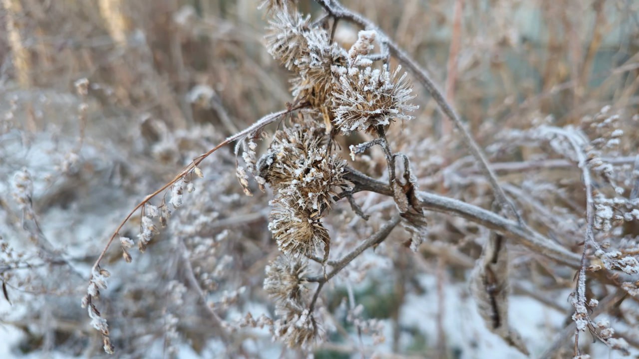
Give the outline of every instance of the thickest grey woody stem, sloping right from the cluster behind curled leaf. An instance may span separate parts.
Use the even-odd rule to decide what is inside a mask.
[[[355,183],[355,192],[369,190],[378,194],[392,197],[392,190],[381,181],[370,178],[362,172],[348,169],[344,178]],[[456,217],[465,218],[477,224],[481,224],[488,229],[500,231],[508,238],[518,241],[525,247],[531,248],[534,253],[550,257],[559,263],[566,264],[572,268],[581,268],[581,257],[578,254],[558,245],[555,241],[544,237],[528,227],[523,227],[518,222],[508,220],[497,213],[484,210],[472,204],[458,201],[456,199],[444,197],[442,195],[419,192],[420,204],[425,210],[447,213]]]

